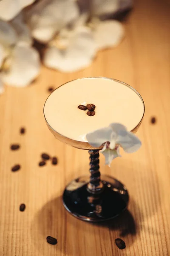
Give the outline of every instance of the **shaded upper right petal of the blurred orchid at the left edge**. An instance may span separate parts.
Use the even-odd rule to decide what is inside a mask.
[[[20,13],[10,22],[11,26],[17,33],[17,44],[18,45],[30,45],[32,44],[31,32],[23,22],[23,15]]]

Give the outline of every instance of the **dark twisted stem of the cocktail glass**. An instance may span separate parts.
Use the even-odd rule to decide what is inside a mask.
[[[90,182],[88,183],[88,191],[96,194],[102,191],[103,183],[100,180],[99,172],[99,150],[89,150],[90,154]]]

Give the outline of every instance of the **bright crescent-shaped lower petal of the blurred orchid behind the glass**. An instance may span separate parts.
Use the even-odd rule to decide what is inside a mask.
[[[65,50],[49,47],[44,56],[45,66],[61,72],[74,72],[91,64],[96,55],[96,44],[88,28],[79,28],[67,44]]]

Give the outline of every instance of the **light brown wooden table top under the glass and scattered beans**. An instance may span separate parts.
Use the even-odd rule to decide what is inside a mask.
[[[119,47],[99,52],[86,70],[67,75],[42,67],[30,87],[6,87],[0,96],[0,256],[170,255],[170,4],[137,1],[125,31]],[[63,189],[88,174],[88,152],[55,140],[42,112],[49,86],[82,76],[125,81],[146,106],[138,132],[142,148],[114,160],[111,169],[100,157],[101,172],[121,180],[130,193],[128,211],[106,224],[79,221],[64,209]],[[20,135],[22,126],[26,134]],[[21,148],[11,151],[11,143]],[[42,152],[57,156],[58,165],[39,167]],[[20,171],[11,172],[17,163]],[[58,244],[48,244],[46,236]],[[118,237],[125,250],[116,247]]]

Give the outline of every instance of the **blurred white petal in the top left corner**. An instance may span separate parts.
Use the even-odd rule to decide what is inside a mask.
[[[0,19],[11,20],[26,6],[34,3],[35,0],[1,0]]]

